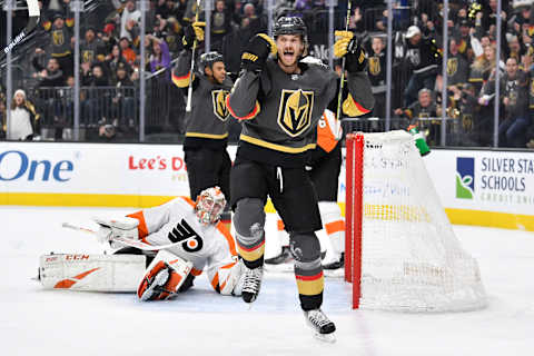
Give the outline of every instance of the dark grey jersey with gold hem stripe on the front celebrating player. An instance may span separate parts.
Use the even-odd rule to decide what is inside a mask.
[[[260,73],[245,71],[227,100],[243,122],[238,155],[274,166],[303,166],[315,148],[317,122],[330,101],[337,103],[338,77],[328,67],[299,63],[299,75],[284,72],[275,59]],[[355,105],[370,110],[374,97],[367,73],[348,76]]]

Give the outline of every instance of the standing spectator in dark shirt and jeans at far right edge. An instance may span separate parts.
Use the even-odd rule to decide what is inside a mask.
[[[525,134],[531,125],[527,85],[528,78],[518,69],[517,58],[510,57],[506,60],[506,72],[501,79],[501,100],[504,107],[504,121],[498,126],[501,147],[525,147]]]

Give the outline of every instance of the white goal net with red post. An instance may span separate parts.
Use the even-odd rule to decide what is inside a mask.
[[[345,278],[353,307],[471,310],[486,304],[406,131],[347,135]]]

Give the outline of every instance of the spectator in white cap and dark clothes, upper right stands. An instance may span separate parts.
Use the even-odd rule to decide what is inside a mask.
[[[435,40],[423,37],[417,26],[408,28],[406,39],[406,59],[413,70],[413,75],[404,91],[404,106],[408,107],[417,100],[416,95],[422,88],[434,89],[441,56]]]

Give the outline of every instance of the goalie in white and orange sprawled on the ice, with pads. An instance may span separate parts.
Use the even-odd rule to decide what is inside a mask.
[[[177,197],[119,219],[93,218],[95,235],[113,253],[41,256],[38,279],[50,289],[137,291],[141,300],[160,300],[192,287],[205,270],[217,293],[240,296],[243,264],[220,222],[225,206],[211,187],[197,201]]]

